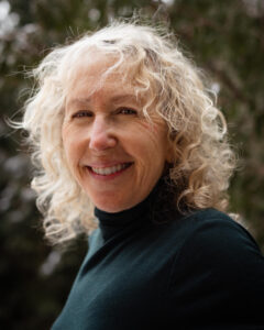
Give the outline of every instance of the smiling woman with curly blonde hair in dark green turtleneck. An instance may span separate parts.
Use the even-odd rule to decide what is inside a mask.
[[[224,213],[224,118],[170,36],[113,23],[34,74],[23,128],[46,237],[89,234],[52,329],[264,329],[264,258]]]

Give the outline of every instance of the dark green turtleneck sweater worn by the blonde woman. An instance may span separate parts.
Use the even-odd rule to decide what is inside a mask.
[[[53,330],[264,329],[252,237],[215,209],[158,207],[160,193],[119,213],[96,209],[99,228]]]

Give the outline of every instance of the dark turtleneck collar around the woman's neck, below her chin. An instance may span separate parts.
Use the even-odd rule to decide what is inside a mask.
[[[99,219],[99,227],[105,240],[128,228],[138,228],[150,223],[153,219],[153,206],[158,201],[160,191],[164,180],[160,179],[152,193],[140,204],[131,209],[109,213],[95,208],[95,216]]]

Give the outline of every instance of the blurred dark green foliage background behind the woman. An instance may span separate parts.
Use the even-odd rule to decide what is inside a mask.
[[[50,329],[86,253],[84,238],[66,252],[43,241],[23,133],[6,123],[32,87],[23,73],[51,47],[135,10],[168,25],[210,77],[241,160],[230,209],[264,251],[264,0],[0,1],[0,329]]]

